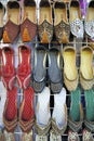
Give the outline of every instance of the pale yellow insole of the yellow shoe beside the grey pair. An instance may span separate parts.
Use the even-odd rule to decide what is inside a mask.
[[[77,78],[76,55],[71,49],[64,52],[64,69],[67,79],[75,80]]]

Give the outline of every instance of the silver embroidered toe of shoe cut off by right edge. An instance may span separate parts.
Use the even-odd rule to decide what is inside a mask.
[[[94,40],[94,21],[85,22],[85,33]]]

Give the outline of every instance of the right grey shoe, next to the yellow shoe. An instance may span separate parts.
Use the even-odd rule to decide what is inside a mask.
[[[53,93],[59,93],[63,88],[61,52],[58,49],[52,48],[49,50],[48,56],[49,56],[48,75],[50,80],[50,87]]]

